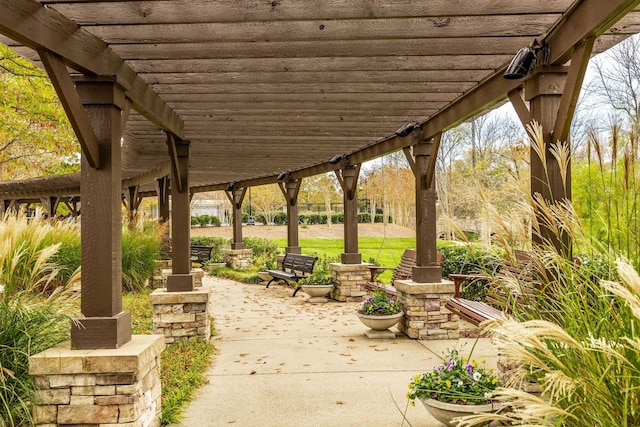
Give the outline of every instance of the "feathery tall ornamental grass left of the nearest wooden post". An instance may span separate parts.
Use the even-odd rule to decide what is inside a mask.
[[[0,222],[0,427],[32,422],[29,356],[68,339],[78,316],[78,271],[61,281],[52,262],[60,244],[51,241],[67,227],[21,214]]]

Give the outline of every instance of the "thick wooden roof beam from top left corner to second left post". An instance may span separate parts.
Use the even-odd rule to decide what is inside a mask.
[[[82,73],[117,76],[134,108],[163,130],[183,137],[182,120],[109,46],[52,8],[34,0],[0,0],[0,33],[44,49]]]

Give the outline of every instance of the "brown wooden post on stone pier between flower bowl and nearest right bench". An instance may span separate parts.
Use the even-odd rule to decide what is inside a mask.
[[[438,134],[429,141],[420,138],[420,142],[412,147],[413,153],[404,150],[415,176],[416,265],[412,270],[412,280],[417,283],[442,281],[442,268],[437,262],[436,252],[436,190],[433,178],[441,136]]]

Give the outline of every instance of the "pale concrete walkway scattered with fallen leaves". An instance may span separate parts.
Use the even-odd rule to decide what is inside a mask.
[[[407,384],[446,349],[470,351],[475,341],[370,340],[359,303],[309,304],[281,285],[212,277],[203,285],[213,288],[217,354],[183,427],[408,426],[405,410],[414,427],[437,426],[421,403],[407,406]],[[486,339],[473,357],[495,366]]]

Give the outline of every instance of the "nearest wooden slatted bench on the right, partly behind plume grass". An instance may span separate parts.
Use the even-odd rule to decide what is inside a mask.
[[[527,298],[532,298],[539,288],[531,256],[526,251],[515,251],[514,259],[505,261],[495,277],[483,274],[450,274],[449,278],[454,283],[454,295],[447,301],[445,308],[476,326],[485,320],[504,319],[510,311],[510,304],[522,304]],[[462,284],[476,280],[489,283],[486,302],[472,301],[460,296]],[[518,289],[510,289],[507,293],[507,282],[517,283]]]

